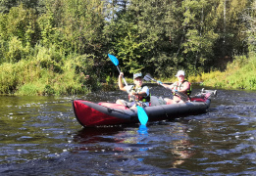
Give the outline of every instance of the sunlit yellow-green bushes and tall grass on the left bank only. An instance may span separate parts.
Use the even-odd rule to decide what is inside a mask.
[[[77,71],[84,64],[76,57],[67,60],[52,51],[40,48],[29,60],[0,65],[0,94],[74,95],[100,86],[92,74],[86,77]]]

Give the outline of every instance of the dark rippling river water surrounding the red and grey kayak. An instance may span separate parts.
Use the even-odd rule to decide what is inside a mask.
[[[152,95],[169,95],[149,86]],[[255,91],[218,90],[208,112],[144,129],[83,128],[72,109],[74,99],[126,96],[0,96],[0,175],[256,175]]]

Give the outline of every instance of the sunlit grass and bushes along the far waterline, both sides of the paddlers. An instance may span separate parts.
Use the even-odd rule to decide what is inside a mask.
[[[0,65],[0,94],[74,95],[100,88],[99,75],[93,69],[93,56],[65,56],[55,49],[40,46],[18,63]],[[190,82],[202,85],[256,90],[256,56],[236,57],[225,72],[219,70],[190,75]],[[86,75],[89,73],[89,76]],[[107,77],[106,88],[113,89],[117,79]],[[132,82],[132,79],[127,79]],[[165,81],[165,80],[163,80]],[[168,79],[166,81],[175,81]]]

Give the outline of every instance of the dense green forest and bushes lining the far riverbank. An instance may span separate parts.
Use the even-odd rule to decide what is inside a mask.
[[[253,0],[2,0],[0,94],[99,89],[117,79],[108,54],[127,77],[184,69],[202,81],[241,68],[243,85],[223,74],[214,86],[256,89],[255,9]]]

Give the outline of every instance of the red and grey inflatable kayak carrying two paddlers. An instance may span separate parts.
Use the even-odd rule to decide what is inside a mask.
[[[186,103],[163,105],[157,97],[151,96],[151,106],[143,108],[148,121],[175,119],[178,116],[204,113],[209,109],[212,95],[216,91],[204,91],[191,97]],[[73,101],[77,121],[84,127],[138,123],[137,110],[113,103],[92,103],[84,100]]]

